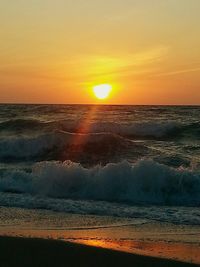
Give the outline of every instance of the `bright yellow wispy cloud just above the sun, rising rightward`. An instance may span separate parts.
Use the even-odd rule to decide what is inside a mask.
[[[77,59],[75,66],[79,67],[82,77],[87,79],[144,73],[152,70],[152,66],[160,62],[168,50],[166,46],[159,46],[133,54],[84,56]]]

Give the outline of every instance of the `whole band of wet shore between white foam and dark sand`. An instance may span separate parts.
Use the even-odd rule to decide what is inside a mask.
[[[197,265],[200,264],[199,233],[197,225],[0,208],[0,236],[4,238],[64,241]]]

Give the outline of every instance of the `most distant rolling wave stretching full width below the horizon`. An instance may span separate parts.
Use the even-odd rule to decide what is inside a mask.
[[[71,134],[113,134],[132,140],[176,140],[177,138],[195,139],[200,133],[200,123],[181,123],[175,121],[147,121],[134,123],[74,121],[40,121],[36,119],[13,119],[0,123],[1,136],[53,135],[55,132]]]

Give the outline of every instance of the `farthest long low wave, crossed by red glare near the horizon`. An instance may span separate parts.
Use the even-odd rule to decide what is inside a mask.
[[[84,123],[73,120],[58,120],[42,122],[36,119],[13,119],[0,123],[0,130],[10,132],[53,132],[66,131],[70,133],[113,133],[132,138],[173,138],[184,131],[200,130],[199,123],[182,124],[174,121],[167,122],[135,122],[131,124],[119,124],[111,122],[89,123],[87,127],[81,127]],[[85,124],[84,124],[85,126]]]

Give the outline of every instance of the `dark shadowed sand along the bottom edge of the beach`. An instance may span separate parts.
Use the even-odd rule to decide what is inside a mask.
[[[0,237],[0,267],[186,267],[160,258],[36,238]]]

